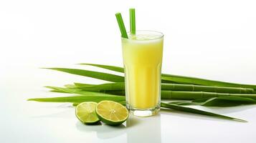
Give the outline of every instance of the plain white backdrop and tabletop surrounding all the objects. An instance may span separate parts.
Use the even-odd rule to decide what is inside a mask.
[[[100,83],[39,67],[122,65],[115,12],[128,28],[162,31],[163,72],[256,84],[255,1],[0,1],[0,142],[255,142],[255,106],[203,108],[248,123],[182,112],[130,118],[120,127],[85,126],[46,85]],[[104,71],[104,70],[102,70]]]

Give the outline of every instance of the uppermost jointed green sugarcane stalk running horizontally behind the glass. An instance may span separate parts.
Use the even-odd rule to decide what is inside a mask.
[[[124,82],[108,83],[108,84],[80,84],[75,83],[75,86],[79,89],[86,91],[114,91],[125,90]],[[229,93],[229,94],[252,94],[253,89],[240,88],[240,87],[214,87],[214,86],[202,86],[193,84],[161,84],[161,90],[171,91],[186,91],[186,92],[217,92],[217,93]]]

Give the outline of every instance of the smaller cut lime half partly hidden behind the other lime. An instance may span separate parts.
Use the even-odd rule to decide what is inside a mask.
[[[75,115],[85,124],[95,124],[100,121],[95,113],[96,102],[82,102],[75,108]]]

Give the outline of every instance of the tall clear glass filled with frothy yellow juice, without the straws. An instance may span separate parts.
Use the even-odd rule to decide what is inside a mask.
[[[161,99],[163,34],[136,31],[122,38],[126,107],[141,117],[157,114]]]

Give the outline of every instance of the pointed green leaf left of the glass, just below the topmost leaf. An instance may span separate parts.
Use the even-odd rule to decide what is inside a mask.
[[[118,76],[115,74],[107,74],[107,73],[98,72],[98,71],[88,71],[83,69],[66,69],[66,68],[44,68],[44,69],[63,71],[69,74],[76,74],[84,77],[92,77],[95,79],[101,79],[109,82],[124,82],[124,77],[122,76]]]

